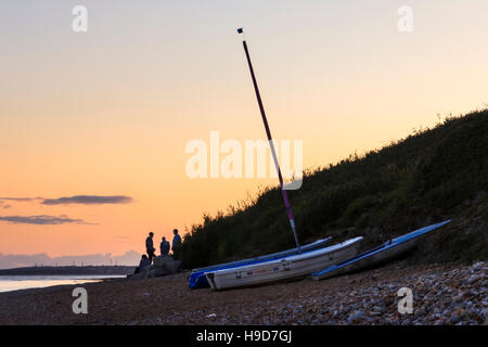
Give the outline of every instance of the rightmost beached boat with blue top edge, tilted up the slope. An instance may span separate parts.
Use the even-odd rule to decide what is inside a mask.
[[[449,222],[450,220],[446,220],[440,223],[418,229],[408,234],[388,240],[383,245],[364,252],[356,257],[336,265],[329,265],[322,270],[312,273],[311,277],[313,280],[319,281],[348,272],[359,271],[395,259],[415,247],[420,241],[420,236]]]

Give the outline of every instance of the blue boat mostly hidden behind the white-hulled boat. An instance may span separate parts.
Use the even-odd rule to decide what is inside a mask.
[[[317,240],[316,242],[300,246],[299,252],[298,252],[298,248],[295,247],[295,248],[273,253],[273,254],[268,254],[265,256],[247,258],[247,259],[224,262],[224,264],[217,264],[217,265],[213,265],[213,266],[205,267],[205,268],[194,269],[194,270],[192,270],[192,273],[190,274],[189,285],[190,285],[190,288],[192,288],[192,290],[207,288],[210,286],[210,284],[207,281],[207,278],[205,277],[205,273],[208,271],[237,268],[237,267],[252,265],[252,264],[258,264],[258,262],[262,262],[262,261],[267,261],[267,260],[281,259],[281,258],[284,258],[286,256],[291,256],[294,254],[306,253],[309,250],[321,248],[321,247],[325,246],[325,244],[331,242],[331,240],[332,240],[332,237]]]

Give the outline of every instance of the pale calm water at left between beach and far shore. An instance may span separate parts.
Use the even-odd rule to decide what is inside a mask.
[[[125,275],[0,275],[0,293],[62,284],[100,282],[102,279],[121,278],[125,278]]]

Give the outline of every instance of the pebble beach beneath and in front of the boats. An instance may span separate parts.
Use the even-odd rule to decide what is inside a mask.
[[[214,292],[190,290],[190,272],[157,279],[82,285],[88,313],[75,314],[75,286],[0,294],[0,324],[409,324],[487,325],[486,261],[408,265],[323,281],[309,278]],[[402,287],[412,312],[400,313]]]

